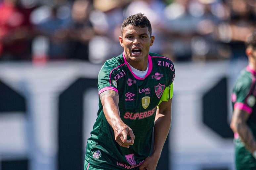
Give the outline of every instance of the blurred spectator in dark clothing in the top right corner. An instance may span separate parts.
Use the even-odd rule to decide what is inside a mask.
[[[232,57],[246,56],[244,41],[256,28],[256,1],[229,0],[226,5],[230,18],[218,25],[217,39],[230,44]]]

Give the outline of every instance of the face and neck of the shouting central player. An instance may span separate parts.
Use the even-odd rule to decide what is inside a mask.
[[[124,54],[127,62],[140,71],[147,70],[149,48],[154,43],[154,36],[150,36],[148,27],[134,27],[127,25],[122,30],[122,36],[119,36],[119,42],[124,48]],[[139,55],[134,54],[132,50],[140,49]]]

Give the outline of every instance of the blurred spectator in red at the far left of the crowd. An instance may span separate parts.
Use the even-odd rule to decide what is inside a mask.
[[[22,4],[23,2],[23,4]],[[33,29],[29,17],[33,4],[4,0],[0,4],[0,59],[30,59]]]

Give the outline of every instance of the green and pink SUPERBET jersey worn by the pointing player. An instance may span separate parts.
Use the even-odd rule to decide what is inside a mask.
[[[109,89],[118,92],[120,117],[133,130],[135,141],[130,148],[117,144],[99,99],[98,118],[87,141],[85,155],[90,164],[109,169],[132,169],[149,156],[156,108],[164,89],[169,86],[172,91],[175,71],[172,61],[158,54],[150,52],[148,62],[144,78],[131,71],[124,53],[103,65],[98,77],[99,94]]]

